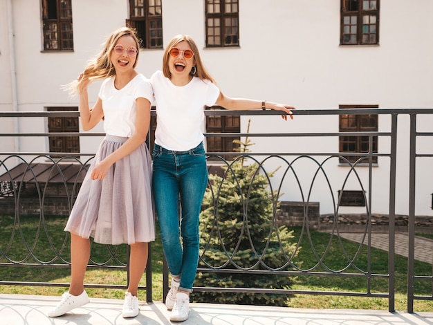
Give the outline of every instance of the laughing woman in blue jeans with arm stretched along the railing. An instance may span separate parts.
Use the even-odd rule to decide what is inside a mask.
[[[174,37],[165,49],[163,71],[151,76],[156,100],[153,189],[164,254],[172,285],[165,304],[170,320],[188,318],[190,293],[199,263],[199,214],[208,184],[203,147],[205,106],[237,111],[275,109],[292,118],[293,106],[227,97],[215,86],[187,35]],[[181,199],[179,224],[178,199]]]

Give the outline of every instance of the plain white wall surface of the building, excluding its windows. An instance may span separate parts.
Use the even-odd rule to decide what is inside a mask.
[[[73,0],[74,50],[47,53],[42,52],[40,1],[0,0],[1,111],[14,110],[12,75],[17,80],[18,111],[77,106],[77,97],[68,97],[62,85],[77,77],[112,30],[125,26],[128,2]],[[205,48],[204,0],[163,0],[163,42],[165,47],[174,35],[192,35],[201,48],[205,65],[221,91],[230,97],[284,102],[297,109],[337,109],[340,104],[378,104],[380,108],[433,107],[433,1],[417,0],[416,6],[409,0],[380,2],[379,46],[339,45],[340,0],[239,0],[239,48]],[[10,10],[12,15],[8,15]],[[14,48],[11,49],[10,44]],[[10,53],[14,51],[15,60],[11,60]],[[162,49],[142,50],[138,71],[150,76],[161,68],[162,55]],[[15,75],[13,71],[16,71]],[[93,102],[99,85],[100,82],[95,82],[90,86],[89,97]],[[251,120],[252,133],[338,131],[337,116],[297,116],[288,122],[277,116],[253,117]],[[407,116],[401,117],[398,130],[398,214],[407,214],[409,196],[406,192],[408,120]],[[19,125],[11,121],[0,121],[2,130],[47,131],[46,119],[22,118]],[[242,131],[246,131],[247,123],[248,118],[243,118]],[[420,123],[429,130],[433,119],[424,117]],[[389,125],[389,117],[380,117],[380,131],[389,131]],[[92,131],[102,131],[102,124]],[[338,151],[336,138],[252,140],[255,151]],[[100,138],[83,138],[81,150],[93,152],[99,142]],[[430,152],[433,149],[431,143],[423,144]],[[380,138],[379,151],[388,151],[388,148],[389,140]],[[42,137],[1,142],[1,151],[14,149],[46,151],[48,142]],[[308,165],[314,168],[311,162],[299,160],[294,164],[301,178],[311,178]],[[418,178],[423,181],[417,188],[417,214],[432,215],[432,160],[420,160],[419,165]],[[270,161],[266,165],[268,170],[278,166],[283,166],[280,161]],[[379,158],[378,167],[374,168],[372,209],[376,213],[388,212],[388,166],[387,158]],[[326,173],[333,175],[333,189],[342,187],[347,170],[336,160],[326,163]],[[362,178],[367,177],[367,169],[361,168],[360,174]],[[321,212],[329,213],[333,204],[329,191],[326,192],[326,182],[320,177],[310,200],[320,201]],[[283,199],[300,200],[300,191],[293,187],[292,181],[293,178],[288,176],[282,189]],[[308,186],[305,186],[304,199],[308,195]],[[357,186],[356,180],[351,179],[346,189],[358,189]]]

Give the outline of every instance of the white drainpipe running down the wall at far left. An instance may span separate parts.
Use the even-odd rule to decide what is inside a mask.
[[[15,69],[15,35],[13,24],[12,0],[8,0],[8,35],[9,35],[9,56],[10,56],[10,88],[12,89],[12,111],[18,112],[18,93],[17,93],[17,71]],[[19,118],[14,118],[14,131],[19,133]],[[14,139],[15,152],[20,152],[21,146],[19,137]]]

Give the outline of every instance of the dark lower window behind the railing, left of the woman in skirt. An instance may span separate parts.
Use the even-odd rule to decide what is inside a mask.
[[[78,107],[47,107],[46,111],[78,111]],[[48,116],[48,133],[59,132],[80,132],[80,122],[78,116]],[[50,152],[50,157],[53,158],[59,157],[59,155],[53,154],[55,152],[79,154],[80,136],[49,136],[48,151]]]

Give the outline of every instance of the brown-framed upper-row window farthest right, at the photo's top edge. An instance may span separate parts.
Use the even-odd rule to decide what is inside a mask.
[[[340,45],[379,44],[380,0],[341,0]]]

